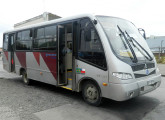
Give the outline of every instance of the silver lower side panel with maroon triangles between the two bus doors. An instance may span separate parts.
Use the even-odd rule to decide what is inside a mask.
[[[16,52],[16,56],[15,56],[16,73],[20,74],[20,70],[21,68],[23,68],[27,71],[27,75],[29,79],[34,79],[44,83],[56,85],[57,84],[56,59],[45,58],[45,57],[52,57],[50,55],[56,53],[38,52],[37,54],[38,57],[35,57],[36,52],[35,53]],[[53,59],[53,60],[50,61],[45,59]]]

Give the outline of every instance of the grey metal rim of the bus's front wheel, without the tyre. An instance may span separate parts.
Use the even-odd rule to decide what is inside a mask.
[[[91,103],[94,103],[98,100],[98,98],[99,92],[97,88],[92,84],[88,84],[85,90],[85,99]]]

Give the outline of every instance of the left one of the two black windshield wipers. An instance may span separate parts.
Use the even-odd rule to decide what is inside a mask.
[[[126,43],[128,44],[128,47],[130,48],[131,52],[132,52],[132,55],[133,55],[133,58],[131,58],[132,62],[135,62],[135,63],[138,62],[137,57],[135,55],[135,52],[134,52],[131,44],[129,43],[127,37],[125,36],[125,33],[120,29],[120,27],[118,25],[117,25],[117,28],[119,29],[121,34],[124,36],[124,39],[125,39]]]

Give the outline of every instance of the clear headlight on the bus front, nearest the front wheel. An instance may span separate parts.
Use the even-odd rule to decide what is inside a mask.
[[[112,75],[123,80],[132,79],[132,75],[130,73],[114,72]]]

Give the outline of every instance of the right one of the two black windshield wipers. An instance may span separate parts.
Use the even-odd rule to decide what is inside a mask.
[[[130,35],[127,33],[127,31],[125,31],[125,33],[127,34],[127,36],[130,38],[132,44],[144,55],[144,53],[134,44],[134,42],[148,55],[148,57],[146,55],[145,58],[147,58],[148,60],[152,61],[153,58],[150,56],[150,54],[133,38],[133,37],[130,37]],[[134,41],[134,42],[133,42]]]

